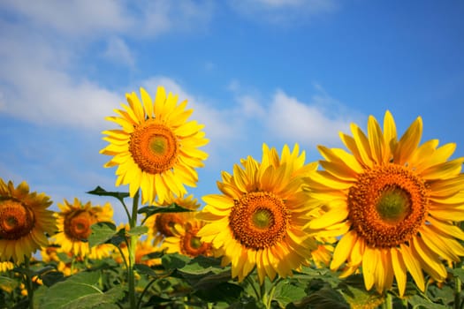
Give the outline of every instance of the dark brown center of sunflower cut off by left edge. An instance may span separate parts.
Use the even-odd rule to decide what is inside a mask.
[[[16,240],[34,229],[34,213],[16,200],[0,203],[0,239]]]

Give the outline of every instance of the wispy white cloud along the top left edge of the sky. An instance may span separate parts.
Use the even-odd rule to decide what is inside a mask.
[[[0,8],[27,23],[85,40],[107,34],[155,36],[209,22],[213,2],[145,0],[4,0]]]

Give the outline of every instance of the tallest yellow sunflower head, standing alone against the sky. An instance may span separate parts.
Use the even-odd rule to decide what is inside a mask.
[[[196,186],[195,168],[208,157],[198,149],[209,141],[203,125],[187,121],[193,109],[186,109],[186,101],[178,105],[177,95],[166,96],[164,87],[157,88],[155,102],[143,88],[141,101],[135,93],[126,99],[129,106],[114,109],[120,117],[106,118],[122,129],[103,132],[110,145],[101,153],[114,156],[104,166],[118,166],[116,185],[129,185],[131,197],[141,189],[143,204],[163,203],[170,192],[185,194],[184,185]]]

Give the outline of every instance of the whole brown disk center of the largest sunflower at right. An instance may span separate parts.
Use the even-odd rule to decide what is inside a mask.
[[[407,242],[424,224],[429,189],[412,170],[389,164],[361,174],[348,193],[349,218],[368,245]]]

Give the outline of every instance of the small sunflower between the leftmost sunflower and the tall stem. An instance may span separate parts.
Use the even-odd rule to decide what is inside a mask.
[[[78,199],[71,204],[67,200],[58,203],[61,212],[57,213],[59,233],[55,241],[61,245],[63,252],[72,252],[73,255],[89,256],[100,259],[110,254],[110,245],[95,246],[90,250],[87,239],[92,233],[91,226],[96,222],[112,222],[113,208],[110,203],[103,207],[93,207],[90,202],[85,205]]]

